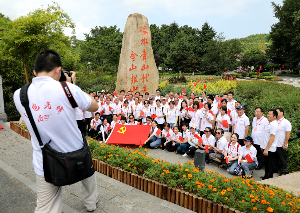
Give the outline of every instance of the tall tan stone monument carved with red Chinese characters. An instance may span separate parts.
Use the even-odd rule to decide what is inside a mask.
[[[155,93],[158,80],[148,19],[139,13],[130,14],[124,29],[116,92]]]

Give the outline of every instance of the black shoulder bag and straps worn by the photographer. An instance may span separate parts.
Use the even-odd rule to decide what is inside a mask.
[[[66,82],[60,82],[64,88],[65,94],[69,99],[73,108],[78,107]],[[22,86],[20,91],[20,100],[25,107],[27,116],[38,139],[39,145],[43,154],[43,168],[45,181],[52,183],[55,186],[65,186],[92,176],[95,173],[91,151],[88,147],[88,142],[83,137],[84,146],[73,152],[58,152],[50,146],[51,140],[45,145],[42,143],[40,134],[35,125],[32,113],[29,108],[29,99],[27,91],[30,84]]]

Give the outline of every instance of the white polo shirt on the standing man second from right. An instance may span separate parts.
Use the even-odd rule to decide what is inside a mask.
[[[266,125],[264,130],[262,131],[262,142],[260,144],[260,148],[265,149],[270,140],[270,135],[275,135],[274,141],[273,141],[271,147],[269,148],[269,151],[276,152],[277,139],[278,139],[278,138],[276,138],[277,134],[278,134],[277,122],[272,121],[271,123],[268,123],[268,125]]]

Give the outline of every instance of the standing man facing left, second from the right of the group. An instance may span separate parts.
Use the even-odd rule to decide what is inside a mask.
[[[274,173],[273,158],[277,146],[277,138],[275,136],[278,134],[278,124],[276,122],[277,116],[278,113],[276,110],[268,111],[267,119],[269,123],[262,132],[260,148],[262,149],[265,158],[265,176],[260,177],[262,180],[272,178]]]

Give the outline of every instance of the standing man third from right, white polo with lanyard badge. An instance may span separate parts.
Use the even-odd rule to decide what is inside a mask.
[[[253,146],[256,149],[256,158],[258,161],[258,166],[255,168],[255,170],[261,170],[263,166],[263,154],[260,144],[262,141],[262,132],[264,131],[265,126],[269,124],[269,121],[263,116],[263,109],[261,107],[255,108],[254,116],[255,117],[252,121],[251,137],[253,138]]]

